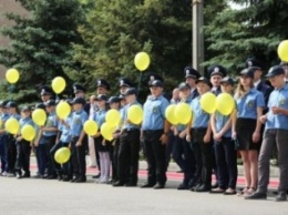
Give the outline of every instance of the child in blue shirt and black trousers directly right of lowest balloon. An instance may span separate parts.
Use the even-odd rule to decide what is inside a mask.
[[[71,172],[74,177],[71,182],[83,183],[86,182],[86,161],[85,161],[85,145],[83,130],[84,123],[88,120],[88,113],[84,111],[85,100],[83,98],[75,98],[72,102],[73,113],[71,116],[70,132],[71,132]]]

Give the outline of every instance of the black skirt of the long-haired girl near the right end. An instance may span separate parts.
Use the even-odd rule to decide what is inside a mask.
[[[253,142],[253,133],[255,132],[257,121],[254,119],[237,119],[236,133],[238,139],[238,150],[259,150],[260,142]]]

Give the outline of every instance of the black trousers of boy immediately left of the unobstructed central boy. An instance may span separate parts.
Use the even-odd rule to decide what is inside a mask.
[[[119,181],[136,184],[138,181],[140,130],[124,130],[119,146]]]

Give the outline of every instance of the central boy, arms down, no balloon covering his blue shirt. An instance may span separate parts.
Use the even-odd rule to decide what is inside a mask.
[[[165,119],[168,101],[163,96],[163,82],[150,82],[151,95],[144,104],[143,143],[148,163],[147,183],[142,187],[164,188],[166,183],[165,144],[169,123]]]

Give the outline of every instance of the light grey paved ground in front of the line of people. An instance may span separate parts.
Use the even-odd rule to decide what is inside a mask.
[[[89,181],[84,184],[0,177],[0,214],[288,214],[288,202],[274,202],[271,193],[268,201],[245,201],[237,196],[177,191],[176,187],[179,183],[177,177],[169,180],[167,188],[161,191],[112,187],[94,183],[91,174],[93,171],[89,173]],[[140,185],[144,183],[144,175],[141,176]]]

